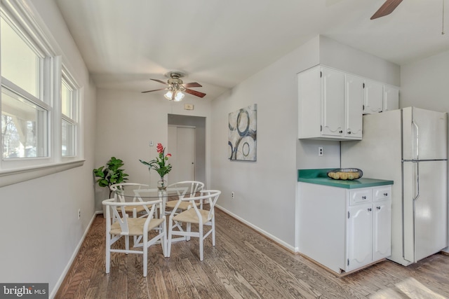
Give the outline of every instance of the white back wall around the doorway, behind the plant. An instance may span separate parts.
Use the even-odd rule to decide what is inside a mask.
[[[184,110],[184,104],[194,104],[194,110]],[[159,176],[139,159],[149,161],[156,158],[156,144],[167,146],[168,114],[206,117],[210,115],[210,104],[204,99],[186,95],[182,102],[169,102],[163,92],[142,94],[123,90],[104,90],[97,92],[97,131],[95,167],[105,165],[112,156],[123,160],[123,169],[129,174],[129,182],[149,183],[156,187]],[[206,134],[206,140],[208,139]],[[154,146],[149,146],[149,141]],[[207,143],[206,143],[207,144]],[[206,150],[206,153],[209,151]],[[170,160],[168,161],[170,162]],[[206,157],[206,165],[208,160]],[[206,186],[208,182],[206,167]],[[170,183],[170,174],[166,176]],[[101,201],[109,193],[107,188],[95,188],[95,209],[102,210]]]

